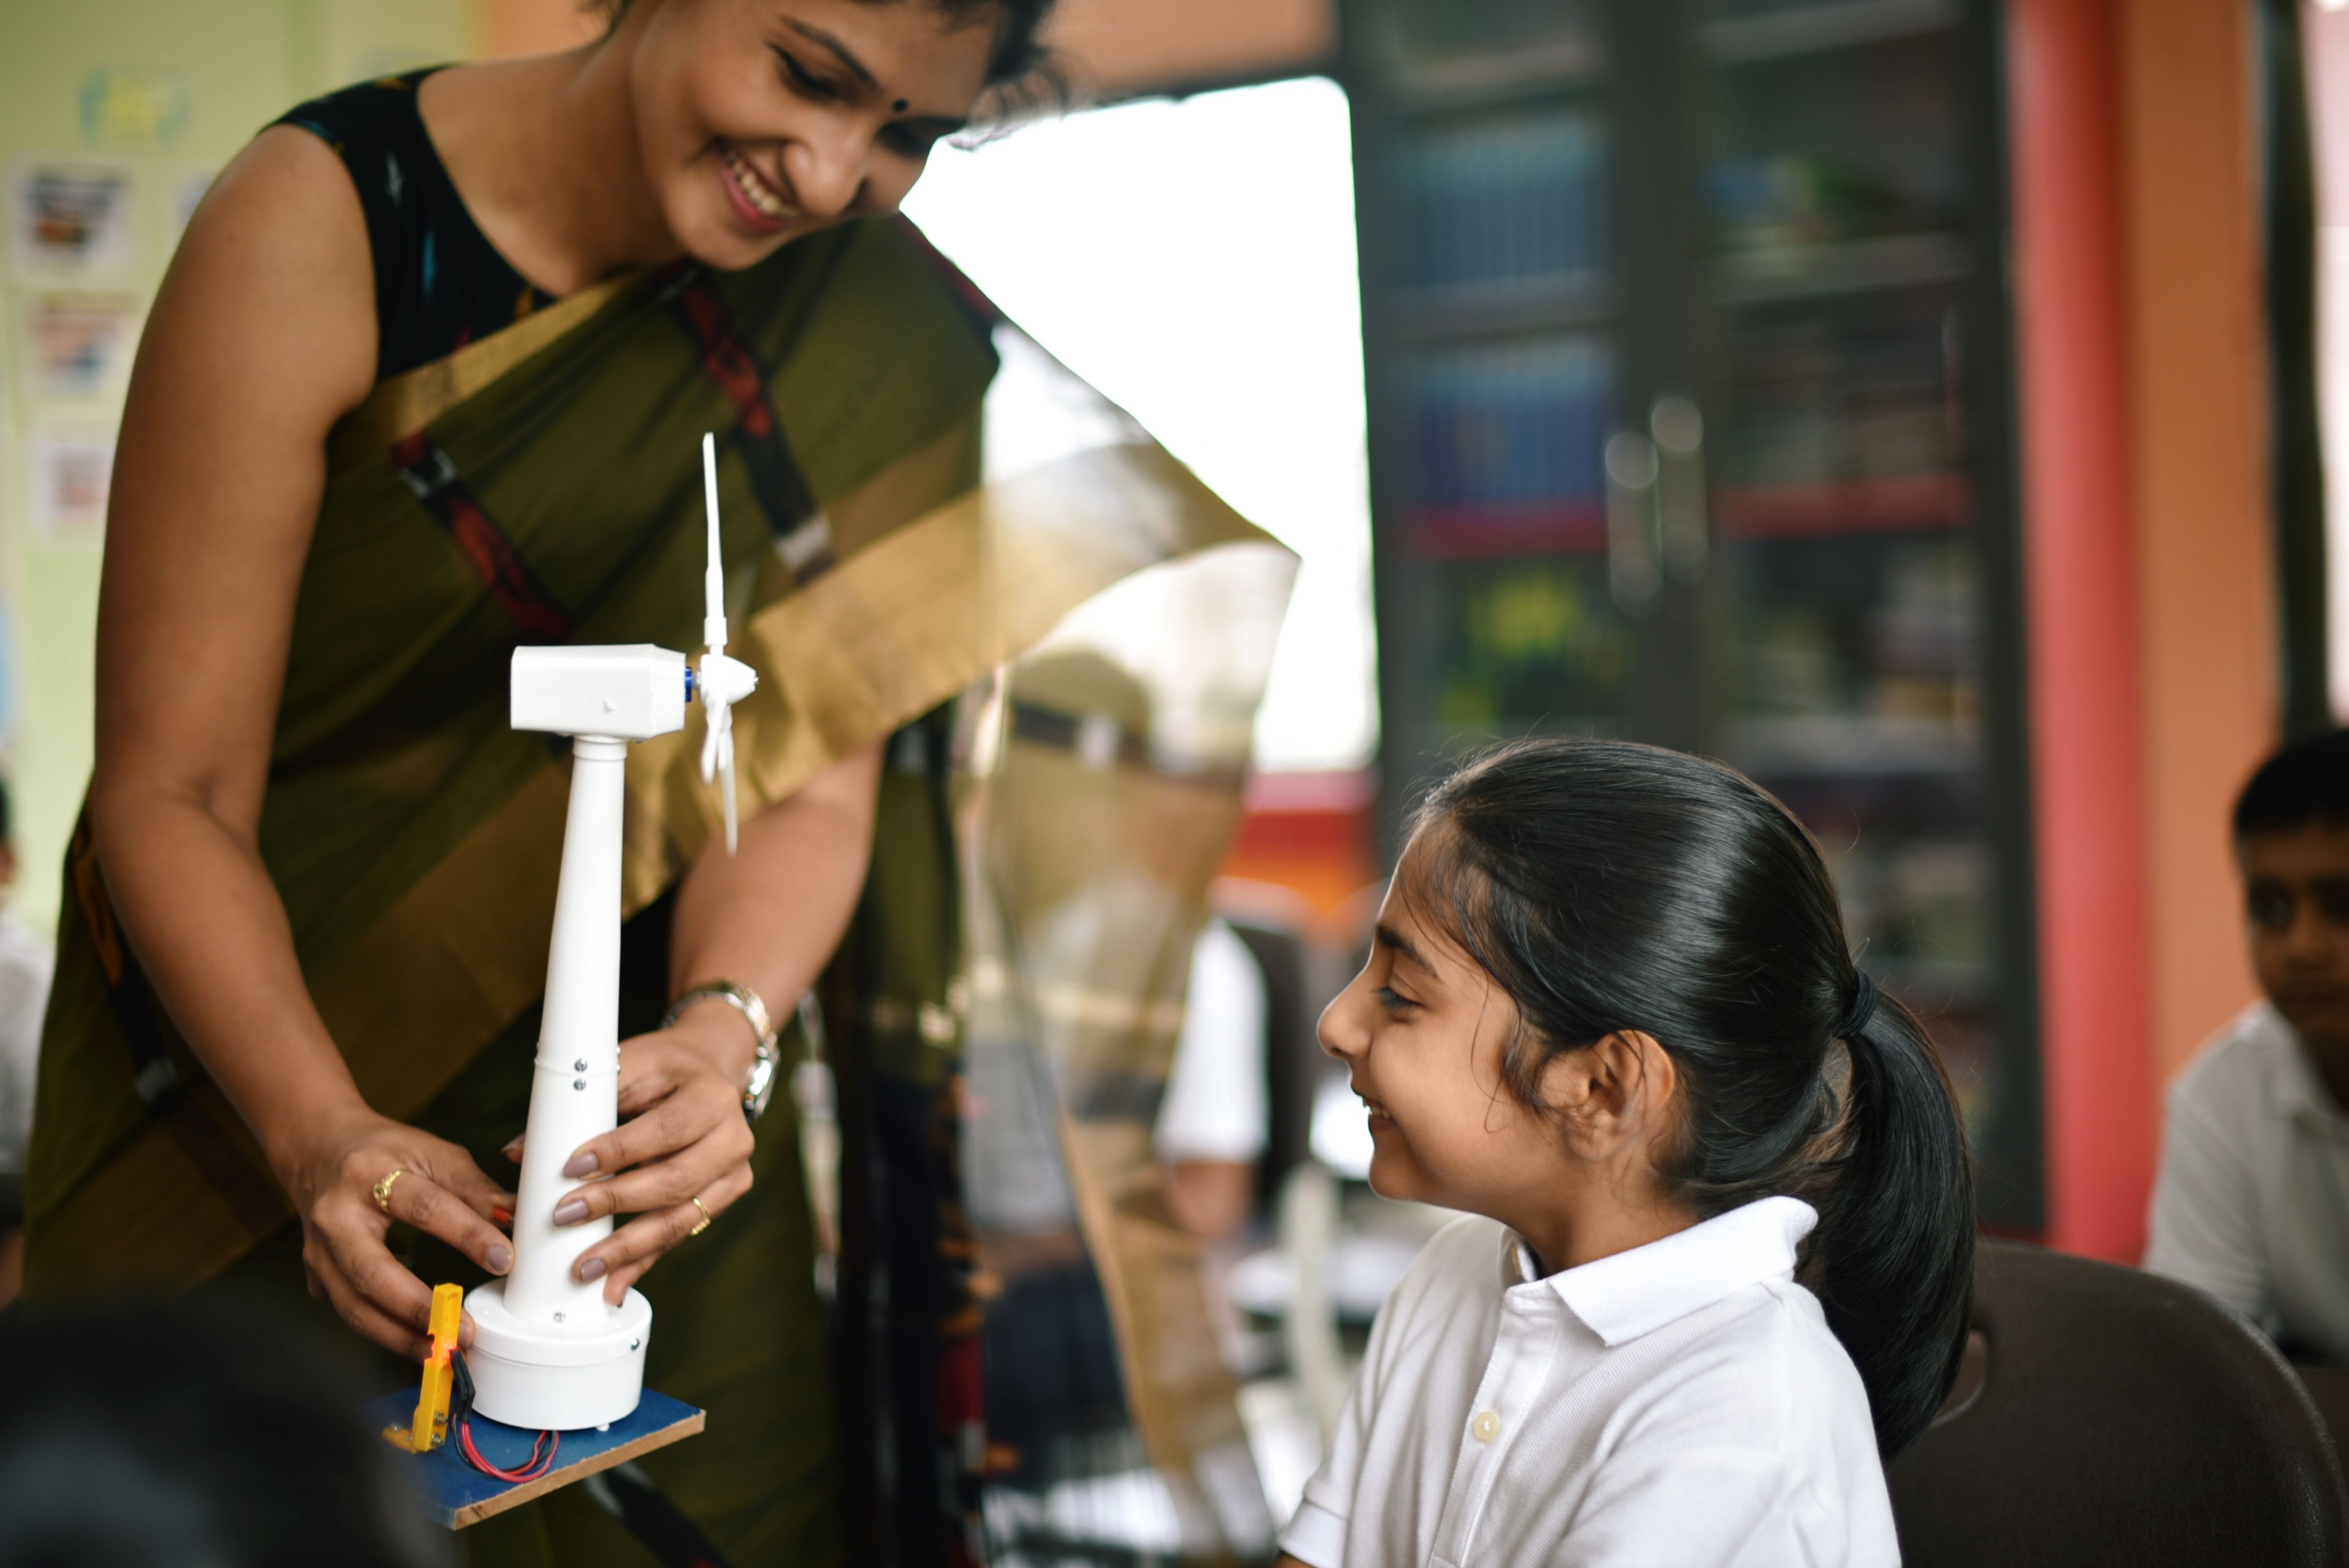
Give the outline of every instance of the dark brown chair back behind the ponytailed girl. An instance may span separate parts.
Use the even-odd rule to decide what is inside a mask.
[[[1980,1382],[1889,1469],[1907,1568],[2340,1568],[2333,1441],[2283,1356],[2154,1274],[1983,1241]]]

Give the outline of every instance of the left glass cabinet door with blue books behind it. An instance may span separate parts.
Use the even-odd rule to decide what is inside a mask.
[[[1365,176],[1391,771],[1499,733],[1616,731],[1616,404],[1602,7],[1365,7]],[[1400,689],[1400,691],[1398,691]],[[1400,769],[1395,766],[1400,762]]]

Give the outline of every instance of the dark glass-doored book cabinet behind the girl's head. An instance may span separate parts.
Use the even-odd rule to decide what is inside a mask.
[[[1999,7],[1344,0],[1388,846],[1496,736],[1722,757],[2041,1213]]]

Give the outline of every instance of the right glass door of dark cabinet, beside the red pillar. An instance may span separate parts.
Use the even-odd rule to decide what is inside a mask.
[[[1691,14],[1705,750],[1828,849],[1860,966],[1933,1032],[2008,1194],[2037,1187],[2037,1070],[2001,997],[2022,867],[1985,745],[2006,510],[1968,355],[1999,266],[1971,42],[1954,0]]]

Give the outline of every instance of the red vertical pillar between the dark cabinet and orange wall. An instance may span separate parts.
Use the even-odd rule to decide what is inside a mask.
[[[2154,1166],[2112,0],[2008,0],[2051,1246],[2135,1262]]]

